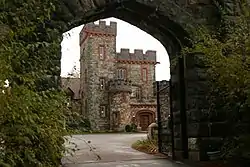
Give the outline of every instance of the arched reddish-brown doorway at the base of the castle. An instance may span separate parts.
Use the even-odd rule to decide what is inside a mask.
[[[137,126],[141,128],[142,131],[147,131],[148,126],[155,122],[155,112],[151,110],[139,110],[136,112],[136,122]]]

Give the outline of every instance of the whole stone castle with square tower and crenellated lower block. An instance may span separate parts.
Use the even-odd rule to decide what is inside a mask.
[[[86,24],[80,32],[82,112],[94,130],[124,130],[155,122],[156,51],[116,53],[116,22]]]

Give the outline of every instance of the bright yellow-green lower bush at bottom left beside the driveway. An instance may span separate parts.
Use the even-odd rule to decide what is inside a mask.
[[[26,87],[0,94],[0,166],[59,166],[65,148],[63,94]]]

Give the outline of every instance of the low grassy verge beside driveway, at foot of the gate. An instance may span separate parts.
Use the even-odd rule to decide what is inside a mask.
[[[157,140],[138,140],[132,144],[132,148],[147,154],[158,153]]]

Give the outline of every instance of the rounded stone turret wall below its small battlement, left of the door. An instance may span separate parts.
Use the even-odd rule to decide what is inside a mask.
[[[124,131],[125,126],[131,124],[132,111],[130,108],[130,93],[115,92],[110,97],[110,120],[112,130]]]

